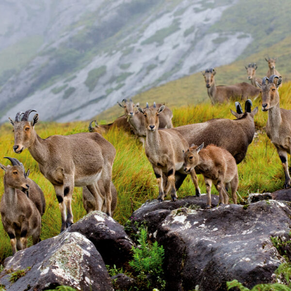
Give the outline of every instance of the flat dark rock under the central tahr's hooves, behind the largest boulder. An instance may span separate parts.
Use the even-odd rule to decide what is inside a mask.
[[[211,206],[217,206],[218,200],[219,197],[217,195],[211,195]],[[133,231],[137,231],[137,226],[146,222],[148,232],[153,234],[157,230],[159,224],[172,210],[182,207],[190,209],[206,209],[207,196],[206,194],[201,194],[200,197],[187,196],[178,199],[176,202],[172,202],[171,200],[165,200],[163,202],[158,202],[157,199],[148,200],[131,214],[129,218],[130,227]]]

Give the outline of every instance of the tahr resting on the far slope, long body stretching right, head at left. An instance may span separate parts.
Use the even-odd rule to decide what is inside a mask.
[[[211,103],[224,103],[230,100],[246,100],[248,97],[257,98],[260,90],[246,82],[229,86],[216,86],[214,76],[216,71],[213,68],[206,69],[204,76],[207,93]]]

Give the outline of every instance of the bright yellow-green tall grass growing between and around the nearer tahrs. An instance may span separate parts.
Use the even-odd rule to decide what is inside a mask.
[[[290,94],[291,83],[284,84],[280,88],[281,107],[291,109],[289,102]],[[260,106],[259,100],[254,102],[254,105]],[[173,123],[174,126],[180,126],[206,121],[213,117],[233,118],[229,112],[230,108],[234,109],[233,107],[233,104],[223,106],[209,106],[209,104],[184,106],[174,109]],[[273,192],[283,186],[284,174],[281,163],[274,146],[262,130],[266,120],[267,113],[259,110],[259,113],[255,116],[259,135],[249,146],[245,160],[238,165],[240,178],[238,191],[242,197],[246,197],[248,192]],[[87,123],[39,123],[35,126],[35,129],[42,138],[46,138],[52,134],[72,134],[86,131]],[[47,210],[43,216],[42,240],[58,234],[61,226],[61,217],[52,185],[40,174],[37,163],[32,159],[27,149],[20,155],[16,155],[13,152],[12,146],[14,141],[12,126],[10,124],[4,124],[0,127],[0,132],[0,157],[15,157],[23,162],[26,168],[31,169],[30,178],[35,180],[44,191]],[[129,136],[123,131],[115,129],[109,132],[106,138],[117,150],[113,165],[113,182],[118,192],[118,206],[114,213],[114,218],[118,222],[124,223],[130,216],[132,210],[140,207],[147,199],[157,197],[158,189],[156,187],[156,179],[151,165],[147,161],[144,150],[133,136]],[[4,164],[8,163],[8,161],[2,158],[0,162]],[[0,181],[3,180],[3,174],[1,170]],[[199,177],[199,184],[202,192],[205,193],[205,186],[201,177]],[[2,193],[3,183],[0,182],[0,196]],[[212,193],[217,194],[214,189]],[[186,179],[178,191],[178,197],[189,194],[194,194],[194,186],[190,177]],[[131,208],[131,198],[133,208]],[[75,188],[72,208],[74,221],[77,221],[85,214],[81,202],[81,188]],[[9,238],[3,231],[2,224],[0,224],[0,261],[8,255],[11,255]]]

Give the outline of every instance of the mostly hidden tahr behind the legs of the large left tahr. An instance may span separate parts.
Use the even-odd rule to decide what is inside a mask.
[[[103,187],[101,180],[98,181],[98,187]],[[94,211],[94,210],[101,210],[103,212],[106,211],[104,197],[97,197],[99,201],[96,203],[96,198],[87,189],[87,187],[82,188],[82,193],[83,193],[83,206],[87,213],[90,213],[91,211]],[[112,181],[111,181],[111,196],[112,196],[111,214],[113,215],[113,212],[117,205],[117,191]],[[100,206],[101,206],[101,209],[97,209],[97,207],[100,207]]]

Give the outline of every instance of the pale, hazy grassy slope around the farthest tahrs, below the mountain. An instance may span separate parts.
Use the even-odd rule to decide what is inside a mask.
[[[288,36],[268,49],[263,49],[230,65],[216,68],[216,84],[231,85],[237,82],[248,82],[244,65],[248,65],[251,62],[255,62],[258,65],[257,76],[264,77],[268,71],[268,64],[264,57],[268,54],[271,57],[278,57],[276,69],[283,76],[283,81],[291,80],[291,68],[288,62],[291,59],[291,36]],[[140,102],[143,106],[146,105],[146,102],[165,102],[172,109],[186,104],[197,104],[205,101],[210,103],[201,72],[152,88],[137,94],[132,99],[135,102]],[[106,120],[109,122],[121,114],[123,114],[123,110],[115,105],[97,115],[96,118],[98,121]]]

